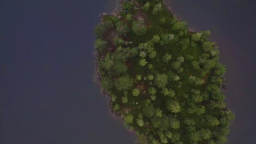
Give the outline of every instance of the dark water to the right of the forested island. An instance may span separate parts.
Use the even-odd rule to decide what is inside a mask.
[[[230,144],[256,143],[256,1],[165,0],[193,31],[210,30],[226,65],[226,103],[236,119]]]

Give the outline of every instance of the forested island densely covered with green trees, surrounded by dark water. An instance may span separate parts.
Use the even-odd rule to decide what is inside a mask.
[[[209,31],[190,32],[161,0],[121,3],[95,27],[98,74],[110,106],[139,143],[225,143],[234,114]]]

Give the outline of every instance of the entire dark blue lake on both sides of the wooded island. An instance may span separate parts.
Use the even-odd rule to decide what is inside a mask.
[[[256,2],[172,0],[193,31],[212,32],[226,65],[230,144],[255,142]],[[94,82],[94,26],[115,1],[0,2],[0,143],[135,143]]]

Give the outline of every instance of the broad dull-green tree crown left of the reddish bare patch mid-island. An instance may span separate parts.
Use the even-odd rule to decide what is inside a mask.
[[[121,91],[122,89],[130,89],[133,85],[133,79],[128,76],[122,76],[115,81],[115,87]]]

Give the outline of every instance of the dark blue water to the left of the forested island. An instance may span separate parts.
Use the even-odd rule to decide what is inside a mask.
[[[0,1],[0,143],[133,143],[93,83],[108,1]]]

